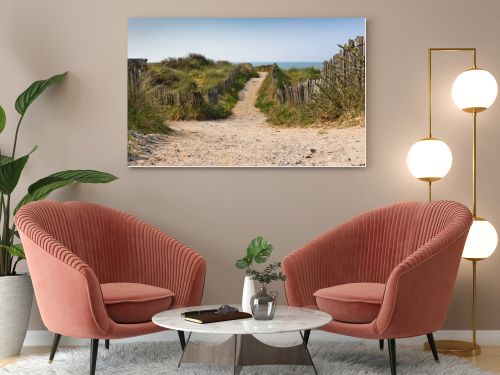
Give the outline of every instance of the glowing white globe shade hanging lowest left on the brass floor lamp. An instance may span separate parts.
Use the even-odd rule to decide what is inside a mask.
[[[415,178],[437,181],[450,171],[453,157],[446,143],[436,138],[425,138],[411,146],[406,162]]]

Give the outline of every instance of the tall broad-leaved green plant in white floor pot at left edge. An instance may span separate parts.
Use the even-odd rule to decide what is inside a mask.
[[[28,191],[15,204],[14,192],[24,167],[36,146],[26,155],[16,156],[17,141],[21,124],[29,106],[47,89],[64,80],[67,73],[31,84],[16,100],[15,109],[19,119],[12,145],[8,154],[0,154],[0,358],[19,355],[28,330],[33,301],[33,287],[29,274],[16,271],[18,263],[24,259],[24,251],[19,243],[19,233],[13,215],[29,202],[46,198],[54,190],[75,182],[107,183],[115,176],[94,170],[66,170],[53,173],[28,187]],[[0,106],[0,133],[5,129],[6,115]]]

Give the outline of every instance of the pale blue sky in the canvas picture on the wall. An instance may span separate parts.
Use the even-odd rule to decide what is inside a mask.
[[[128,57],[323,61],[358,35],[365,35],[364,18],[130,18]]]

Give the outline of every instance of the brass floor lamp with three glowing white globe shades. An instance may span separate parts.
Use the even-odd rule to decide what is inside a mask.
[[[433,52],[471,52],[472,68],[461,73],[453,83],[452,99],[464,112],[472,114],[472,214],[473,224],[467,236],[462,257],[472,262],[472,343],[457,340],[437,340],[440,353],[457,356],[474,356],[481,353],[476,342],[477,329],[477,291],[476,266],[479,260],[488,258],[496,249],[498,236],[493,225],[479,217],[477,202],[477,114],[489,108],[496,99],[498,87],[489,72],[476,65],[475,48],[430,48],[428,50],[428,115],[429,137],[416,142],[408,152],[408,168],[412,174],[429,186],[429,201],[432,199],[432,182],[444,177],[451,168],[451,151],[448,146],[432,138],[432,53]],[[434,142],[434,143],[432,143]],[[429,349],[429,345],[425,345]]]

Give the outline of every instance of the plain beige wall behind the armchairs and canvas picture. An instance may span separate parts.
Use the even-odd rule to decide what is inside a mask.
[[[241,4],[241,5],[239,5]],[[500,2],[496,0],[2,0],[0,103],[10,128],[15,96],[35,79],[69,70],[26,118],[20,149],[33,144],[21,187],[62,168],[98,168],[120,177],[107,186],[78,186],[59,199],[92,200],[129,211],[199,250],[208,261],[204,301],[237,302],[243,274],[233,261],[256,235],[281,258],[353,214],[406,199],[426,199],[406,168],[411,144],[425,136],[426,48],[474,46],[479,64],[500,78]],[[126,152],[128,17],[367,17],[366,168],[131,169]],[[279,46],[277,46],[279,48]],[[297,46],[300,48],[300,46]],[[436,198],[465,203],[471,195],[470,118],[449,90],[469,65],[465,54],[435,63],[435,134],[454,151]],[[479,116],[479,213],[500,229],[500,103]],[[479,328],[500,329],[500,254],[479,264]],[[471,266],[463,261],[446,328],[470,320]],[[33,314],[31,328],[42,327]]]

